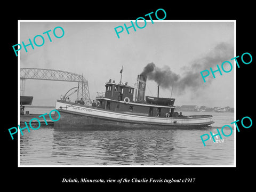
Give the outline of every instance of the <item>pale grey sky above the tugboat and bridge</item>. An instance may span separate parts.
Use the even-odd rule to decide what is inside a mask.
[[[143,20],[142,20],[143,22]],[[90,98],[95,99],[97,92],[105,91],[105,83],[111,78],[120,81],[119,71],[123,66],[122,82],[134,86],[137,75],[141,74],[148,63],[154,63],[159,71],[172,71],[179,76],[173,87],[161,87],[159,97],[175,98],[174,105],[198,105],[208,107],[234,107],[234,22],[198,22],[150,20],[143,29],[125,29],[117,37],[114,28],[131,25],[125,21],[20,21],[20,41],[28,44],[36,35],[42,35],[42,46],[22,47],[20,68],[45,68],[69,71],[83,75],[89,84]],[[139,23],[140,26],[143,23]],[[61,38],[53,35],[55,27],[62,27],[65,34]],[[49,33],[52,42],[45,31]],[[56,30],[61,35],[60,30]],[[37,38],[40,44],[40,38]],[[224,48],[223,48],[224,47]],[[15,54],[15,53],[14,53]],[[210,67],[217,69],[221,63],[230,61],[233,70],[215,73],[203,82],[200,72]],[[224,66],[226,70],[228,66]],[[181,84],[182,82],[182,84]],[[185,85],[186,84],[186,85]],[[157,83],[147,80],[146,95],[157,96]],[[65,94],[75,82],[57,82],[27,79],[25,95],[33,96],[34,106],[55,106],[56,99]],[[182,91],[181,91],[181,86]],[[75,100],[76,95],[71,95]]]

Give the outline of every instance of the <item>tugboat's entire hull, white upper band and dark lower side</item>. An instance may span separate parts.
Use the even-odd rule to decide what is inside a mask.
[[[206,127],[212,123],[211,115],[194,115],[184,117],[154,117],[134,115],[129,112],[116,112],[107,109],[84,106],[78,103],[57,100],[56,109],[60,120],[54,122],[54,129],[92,128],[96,127]]]

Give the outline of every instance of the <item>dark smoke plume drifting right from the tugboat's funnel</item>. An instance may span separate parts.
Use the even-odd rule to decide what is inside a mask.
[[[170,66],[159,68],[155,63],[151,62],[143,69],[141,75],[146,75],[148,80],[155,81],[163,89],[170,89],[174,84],[174,89],[178,94],[183,94],[185,90],[192,89],[197,91],[204,86],[202,76],[203,70],[217,70],[217,66],[221,68],[221,63],[230,61],[234,58],[234,47],[228,43],[220,43],[215,46],[209,53],[203,55],[191,62],[190,66],[182,68],[182,75],[174,73]],[[217,72],[216,74],[218,74]],[[222,73],[223,74],[223,73]],[[210,74],[210,76],[212,76]],[[207,85],[211,83],[213,77],[207,77]]]

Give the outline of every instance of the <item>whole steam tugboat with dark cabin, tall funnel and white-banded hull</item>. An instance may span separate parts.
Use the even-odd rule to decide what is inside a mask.
[[[127,82],[115,83],[110,79],[105,84],[105,92],[97,92],[92,106],[79,101],[69,102],[65,98],[57,100],[55,109],[60,112],[60,120],[54,122],[54,129],[150,126],[172,129],[206,127],[214,123],[212,115],[183,116],[174,112],[173,98],[146,96],[145,100],[146,82],[147,76],[138,75],[135,89],[127,85]]]

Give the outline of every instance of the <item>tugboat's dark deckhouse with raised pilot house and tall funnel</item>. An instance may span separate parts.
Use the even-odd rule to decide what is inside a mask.
[[[127,113],[134,115],[156,116],[156,117],[172,117],[174,114],[174,100],[171,98],[154,98],[154,102],[145,101],[147,76],[138,75],[137,89],[123,84],[116,84],[115,81],[106,83],[105,93],[97,93],[97,107],[110,111],[118,111],[119,113]],[[135,92],[135,94],[134,94]],[[133,97],[134,95],[134,97]],[[134,99],[133,99],[134,98]],[[161,99],[169,102],[163,103]],[[161,103],[159,105],[157,103]]]

